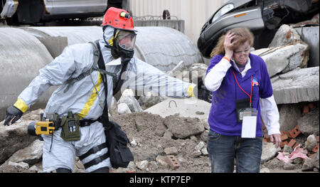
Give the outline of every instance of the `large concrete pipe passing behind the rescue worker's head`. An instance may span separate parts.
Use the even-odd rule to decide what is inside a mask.
[[[22,29],[39,38],[53,58],[59,55],[67,45],[102,38],[100,26],[25,27]],[[203,63],[198,48],[186,35],[176,29],[149,26],[135,27],[135,29],[138,31],[135,55],[159,70],[172,70],[181,60],[186,66]],[[61,37],[68,38],[68,43],[58,42],[63,39]],[[57,44],[60,46],[57,47]]]

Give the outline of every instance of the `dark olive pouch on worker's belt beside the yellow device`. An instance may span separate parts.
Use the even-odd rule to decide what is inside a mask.
[[[62,131],[60,137],[64,141],[78,141],[80,140],[80,120],[78,115],[73,112],[68,112],[67,117],[61,119]]]

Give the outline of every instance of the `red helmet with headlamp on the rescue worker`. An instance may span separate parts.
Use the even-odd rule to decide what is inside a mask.
[[[110,7],[106,11],[101,26],[112,26],[125,31],[135,31],[132,16],[127,11],[114,7]]]

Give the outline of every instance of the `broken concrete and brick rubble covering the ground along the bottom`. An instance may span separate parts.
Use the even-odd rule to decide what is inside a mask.
[[[316,107],[314,107],[316,108]],[[6,158],[2,157],[0,172],[42,172],[42,146],[43,141],[26,134],[26,126],[31,120],[38,120],[42,109],[24,115],[8,132],[8,127],[1,126],[0,142],[9,141],[9,134],[23,133],[25,144],[15,150],[4,150]],[[31,114],[32,113],[32,114]],[[37,113],[37,114],[36,114]],[[308,112],[309,113],[309,112]],[[306,114],[308,114],[306,113]],[[124,132],[131,141],[130,149],[134,154],[134,161],[127,169],[112,169],[112,172],[159,172],[159,171],[189,171],[210,172],[210,161],[206,151],[208,123],[198,117],[180,117],[169,115],[161,117],[158,114],[148,112],[133,112],[130,114],[114,114],[110,117],[122,125]],[[0,122],[3,125],[3,121]],[[23,130],[21,130],[21,128]],[[319,169],[319,129],[318,135],[306,136],[299,131],[299,126],[282,131],[282,145],[276,149],[267,138],[264,127],[264,142],[262,149],[262,172],[266,169],[299,169],[300,171],[316,171]],[[19,137],[19,139],[14,139]],[[306,138],[307,137],[307,138]],[[12,135],[12,145],[21,141],[21,135]],[[28,140],[28,141],[27,141]],[[282,161],[279,155],[294,155],[294,150],[304,150],[304,159],[297,156],[290,161]],[[3,153],[4,153],[3,151]],[[318,156],[317,156],[318,154]],[[170,159],[168,158],[170,157]],[[278,161],[275,161],[277,159]],[[172,161],[174,160],[174,162]],[[283,163],[282,163],[283,162]],[[275,165],[272,165],[277,163]],[[84,172],[82,163],[77,159],[73,172]]]

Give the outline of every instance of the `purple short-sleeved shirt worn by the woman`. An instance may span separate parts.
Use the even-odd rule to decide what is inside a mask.
[[[210,60],[207,73],[223,58],[223,55],[215,55]],[[245,92],[251,92],[251,76],[252,76],[252,107],[258,110],[257,115],[257,132],[256,137],[262,137],[262,121],[260,113],[260,97],[271,97],[272,85],[269,73],[267,72],[267,65],[257,55],[250,53],[251,69],[247,71],[244,78],[241,73],[233,66],[227,71],[225,78],[221,82],[218,90],[213,92],[212,106],[210,108],[210,114],[208,117],[208,123],[210,129],[219,134],[225,134],[229,136],[241,136],[242,124],[237,122],[237,114],[235,110],[235,101],[248,98],[248,96],[242,92],[238,87],[237,82],[233,76],[235,76],[240,86]],[[237,89],[237,90],[235,90]],[[235,95],[237,93],[237,95]]]

